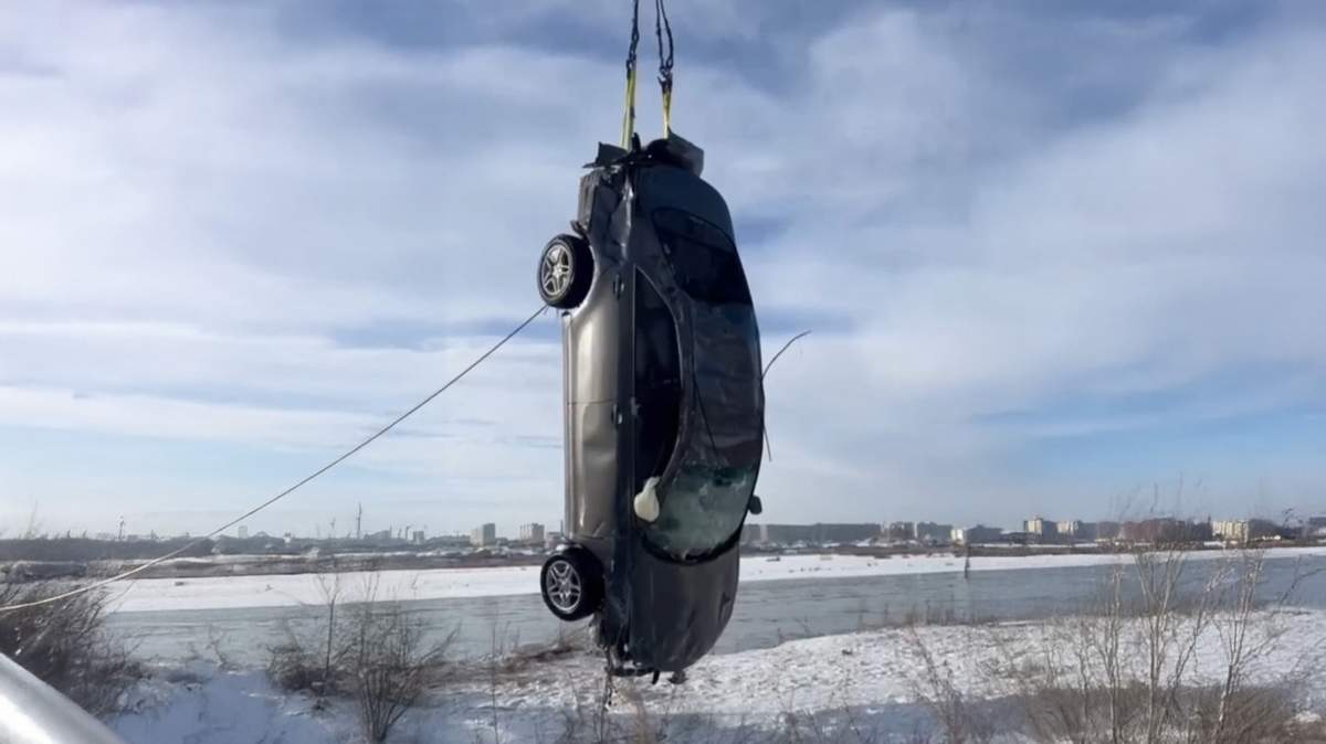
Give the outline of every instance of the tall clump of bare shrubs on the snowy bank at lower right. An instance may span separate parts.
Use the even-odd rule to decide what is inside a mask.
[[[1022,702],[1028,733],[1074,744],[1284,740],[1289,691],[1313,665],[1266,662],[1306,575],[1261,601],[1265,560],[1238,551],[1192,576],[1181,549],[1139,549],[1111,569],[1093,612],[1045,624],[1030,649],[992,634],[996,671]]]

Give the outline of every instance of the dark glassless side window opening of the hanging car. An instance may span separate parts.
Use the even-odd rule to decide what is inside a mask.
[[[676,322],[642,271],[635,275],[635,492],[663,474],[682,420],[682,363]]]

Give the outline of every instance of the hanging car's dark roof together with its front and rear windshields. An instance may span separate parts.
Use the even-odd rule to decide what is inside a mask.
[[[692,418],[679,465],[660,494],[650,540],[679,559],[720,547],[741,527],[762,433],[760,338],[741,263],[712,225],[655,216],[678,283],[693,301]],[[686,230],[686,232],[683,232]]]

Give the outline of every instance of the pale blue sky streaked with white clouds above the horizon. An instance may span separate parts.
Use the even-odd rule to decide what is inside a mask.
[[[1326,7],[668,9],[765,356],[812,331],[766,380],[761,520],[1326,512]],[[627,28],[625,0],[0,7],[0,531],[207,532],[533,312]],[[247,524],[556,528],[560,355],[548,314]]]

